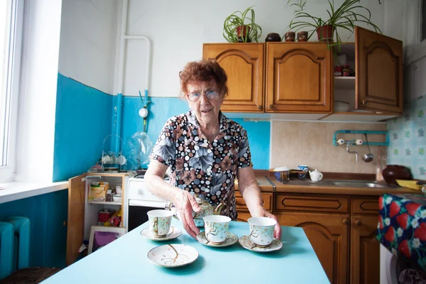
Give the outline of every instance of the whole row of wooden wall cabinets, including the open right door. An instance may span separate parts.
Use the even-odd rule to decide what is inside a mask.
[[[355,35],[355,43],[343,44],[337,51],[348,55],[355,77],[334,77],[337,62],[325,43],[205,43],[203,57],[216,59],[228,75],[224,112],[320,121],[400,116],[402,42],[359,27]],[[349,102],[349,111],[334,111],[334,100]]]

